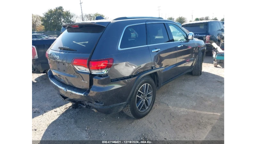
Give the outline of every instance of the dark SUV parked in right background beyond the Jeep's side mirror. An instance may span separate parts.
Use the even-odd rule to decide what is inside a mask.
[[[212,43],[220,46],[220,43],[224,42],[224,26],[220,21],[202,20],[188,22],[183,23],[182,28],[187,32],[193,32],[195,38],[203,40],[206,45],[206,52],[213,50]]]

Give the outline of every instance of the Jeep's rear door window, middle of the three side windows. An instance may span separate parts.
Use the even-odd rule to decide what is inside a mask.
[[[149,44],[162,44],[170,42],[164,23],[149,23]]]

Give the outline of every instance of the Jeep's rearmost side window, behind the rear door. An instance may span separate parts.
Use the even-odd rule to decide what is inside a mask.
[[[132,25],[125,28],[120,49],[147,45],[146,24]]]

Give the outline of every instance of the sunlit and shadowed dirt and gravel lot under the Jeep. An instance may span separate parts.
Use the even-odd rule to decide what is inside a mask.
[[[212,62],[205,58],[201,76],[186,74],[164,85],[139,120],[72,109],[46,74],[32,74],[32,140],[225,140],[225,69]]]

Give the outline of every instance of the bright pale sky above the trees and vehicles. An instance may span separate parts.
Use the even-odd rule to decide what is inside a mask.
[[[224,17],[226,1],[220,0],[213,3],[208,0],[81,0],[83,13],[102,13],[110,19],[117,17],[158,17],[158,6],[160,17],[177,18],[184,16],[187,20],[209,16]],[[80,0],[31,0],[31,13],[43,15],[48,9],[62,6],[65,10],[81,15]]]

